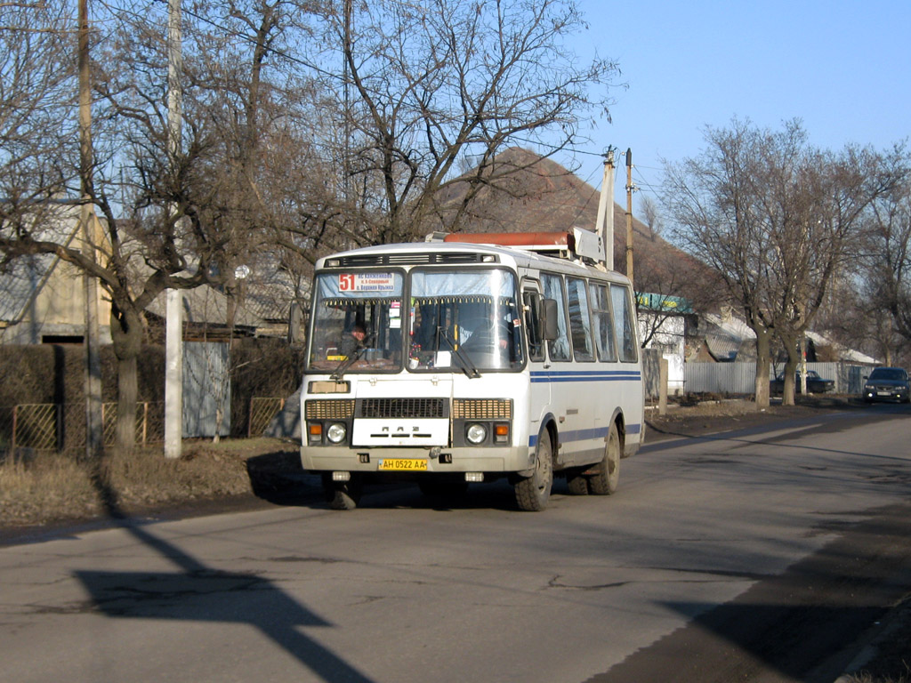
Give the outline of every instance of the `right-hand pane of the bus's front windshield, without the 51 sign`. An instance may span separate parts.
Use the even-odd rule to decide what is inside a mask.
[[[413,270],[408,368],[517,370],[525,362],[508,270]]]

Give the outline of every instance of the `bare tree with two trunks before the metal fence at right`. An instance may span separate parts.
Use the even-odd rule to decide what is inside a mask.
[[[775,334],[788,357],[783,402],[793,403],[800,342],[896,169],[869,149],[812,148],[799,121],[776,132],[734,119],[708,129],[707,140],[703,158],[669,167],[678,235],[722,274],[756,332],[756,402],[768,403]]]

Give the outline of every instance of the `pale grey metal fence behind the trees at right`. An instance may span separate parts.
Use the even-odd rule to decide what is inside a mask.
[[[783,363],[770,367],[769,377],[783,371]],[[834,380],[835,393],[860,393],[870,368],[846,362],[808,362],[807,370]],[[755,362],[688,362],[683,365],[683,390],[686,393],[748,395],[756,391]]]

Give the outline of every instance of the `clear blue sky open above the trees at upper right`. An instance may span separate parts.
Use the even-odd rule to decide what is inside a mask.
[[[598,122],[586,151],[630,148],[641,192],[660,184],[662,158],[698,156],[704,127],[726,127],[734,116],[772,128],[800,118],[812,144],[834,150],[882,149],[911,136],[909,0],[579,5],[589,22],[579,54],[597,49],[617,61],[629,85],[611,91],[612,123]],[[603,160],[575,159],[578,175],[600,187]],[[618,163],[615,199],[625,205],[625,160]]]

